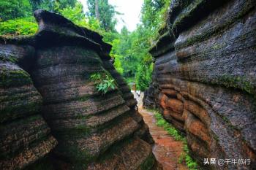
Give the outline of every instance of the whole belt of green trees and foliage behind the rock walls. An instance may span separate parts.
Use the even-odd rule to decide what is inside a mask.
[[[18,4],[17,1],[14,0],[16,4]],[[19,5],[22,7],[18,5],[9,7],[9,2],[7,0],[0,2],[0,8],[6,7],[8,10],[15,8],[12,11],[18,8],[23,9],[20,13],[18,12],[18,15],[12,15],[12,18],[31,15],[31,9],[42,8],[58,12],[78,26],[97,31],[104,36],[105,42],[113,45],[110,55],[115,58],[114,66],[119,73],[125,78],[135,80],[138,90],[146,90],[151,82],[153,65],[148,49],[158,36],[159,26],[165,23],[162,16],[170,0],[145,0],[141,16],[142,23],[132,33],[124,27],[121,34],[115,30],[115,15],[119,13],[108,3],[108,0],[99,0],[98,16],[95,12],[95,0],[88,1],[89,12],[86,15],[83,13],[82,4],[77,0],[21,0]],[[3,12],[4,16],[8,13],[7,9],[5,13]],[[4,35],[27,35],[37,31],[37,24],[30,18],[7,20],[0,23],[0,26],[0,34]]]

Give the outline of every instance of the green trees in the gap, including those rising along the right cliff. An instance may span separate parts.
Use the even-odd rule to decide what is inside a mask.
[[[142,23],[132,33],[124,27],[118,41],[113,41],[114,66],[125,78],[133,77],[138,90],[146,90],[151,82],[153,59],[148,50],[159,36],[159,28],[165,25],[169,5],[170,0],[144,0]]]

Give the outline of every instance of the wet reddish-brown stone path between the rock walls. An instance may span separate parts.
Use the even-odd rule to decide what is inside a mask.
[[[143,115],[143,120],[148,124],[150,134],[154,139],[154,147],[152,148],[157,161],[162,164],[164,170],[187,170],[187,166],[178,163],[178,158],[183,152],[183,144],[176,141],[172,136],[167,134],[164,128],[156,125],[156,120],[152,112],[148,112],[139,106],[139,112]]]

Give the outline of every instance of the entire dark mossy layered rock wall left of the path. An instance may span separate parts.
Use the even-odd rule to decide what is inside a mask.
[[[55,13],[34,16],[37,34],[1,38],[0,169],[162,169],[111,46]],[[94,73],[118,87],[102,95]]]

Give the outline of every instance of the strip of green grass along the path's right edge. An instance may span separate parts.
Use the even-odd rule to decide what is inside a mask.
[[[179,134],[176,128],[173,127],[173,125],[167,123],[164,117],[162,117],[162,115],[157,110],[151,110],[151,112],[154,112],[154,117],[157,120],[157,126],[163,127],[165,131],[167,131],[168,134],[170,134],[170,136],[173,136],[173,138],[176,139],[177,141],[183,142],[184,153],[180,155],[180,158],[178,158],[178,163],[182,163],[183,161],[185,161],[189,170],[197,170],[197,163],[189,155],[189,148],[187,146],[186,137]]]

